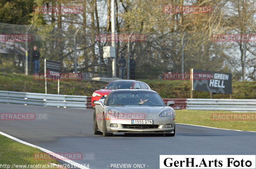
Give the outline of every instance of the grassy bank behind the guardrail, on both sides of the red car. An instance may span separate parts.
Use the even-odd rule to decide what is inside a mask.
[[[189,98],[189,81],[140,80],[148,83],[163,98]],[[100,81],[60,81],[61,95],[92,95],[106,85]],[[0,90],[44,93],[44,81],[36,81],[32,75],[0,73]],[[47,81],[47,93],[57,94],[57,81]],[[232,98],[256,99],[256,81],[232,81]],[[209,92],[194,91],[194,98],[210,98]],[[216,99],[228,99],[229,95],[213,94]]]

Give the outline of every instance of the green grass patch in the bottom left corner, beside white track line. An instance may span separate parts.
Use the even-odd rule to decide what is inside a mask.
[[[47,161],[58,164],[57,160],[37,160],[33,158],[34,153],[43,151],[21,144],[8,137],[0,135],[0,164],[11,165],[47,165]],[[56,167],[55,167],[56,168]]]

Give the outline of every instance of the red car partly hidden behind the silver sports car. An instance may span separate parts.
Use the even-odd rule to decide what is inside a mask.
[[[96,90],[92,94],[92,106],[95,106],[94,102],[100,100],[100,97],[106,97],[111,90],[115,89],[148,89],[151,88],[147,83],[135,80],[117,80],[108,83],[106,86],[102,86],[100,90]]]

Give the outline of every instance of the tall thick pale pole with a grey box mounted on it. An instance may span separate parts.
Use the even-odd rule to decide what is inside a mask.
[[[111,33],[112,33],[112,46],[116,48],[115,33],[115,1],[111,0]],[[116,56],[112,60],[112,76],[116,77]]]

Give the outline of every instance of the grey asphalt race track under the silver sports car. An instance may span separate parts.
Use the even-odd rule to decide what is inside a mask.
[[[256,150],[256,132],[176,124],[175,137],[103,137],[93,135],[92,109],[0,103],[0,113],[46,114],[46,119],[0,120],[0,131],[56,153],[83,153],[82,160],[73,161],[92,169],[110,168],[111,164],[145,164],[145,168],[156,169],[159,155],[252,155]]]

